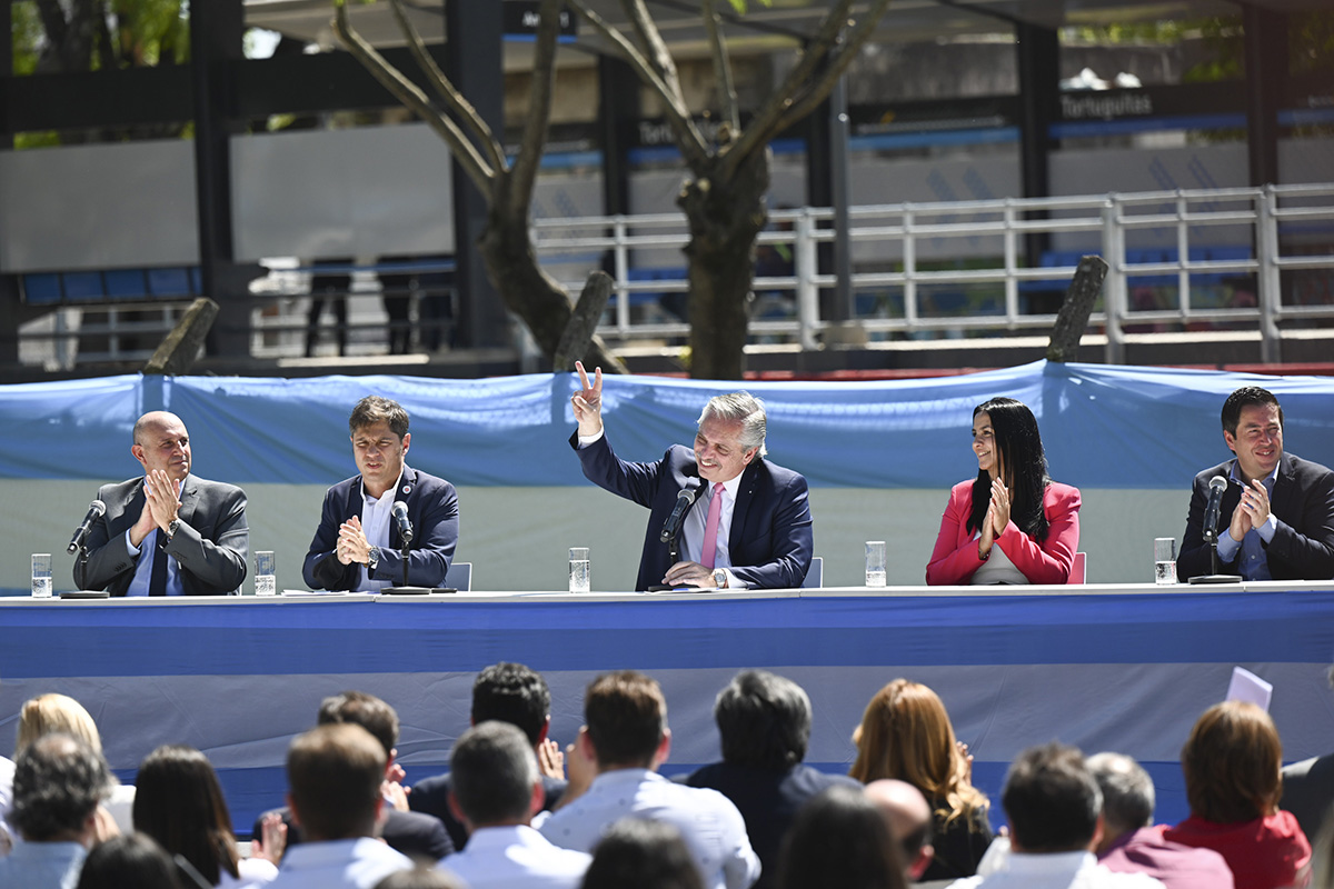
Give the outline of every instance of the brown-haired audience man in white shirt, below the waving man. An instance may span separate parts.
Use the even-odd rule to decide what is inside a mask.
[[[670,750],[667,701],[658,682],[634,670],[599,676],[584,692],[568,793],[576,793],[576,774],[591,773],[592,782],[542,824],[542,834],[558,846],[590,852],[620,818],[664,821],[682,832],[707,889],[747,889],[759,877],[759,858],[746,821],[722,793],[658,774]]]

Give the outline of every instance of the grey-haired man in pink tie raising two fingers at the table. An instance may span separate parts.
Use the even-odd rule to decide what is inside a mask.
[[[570,444],[584,476],[651,510],[636,589],[802,585],[814,546],[806,478],[764,460],[766,417],[758,399],[748,392],[711,399],[699,416],[694,450],[674,445],[662,460],[627,462],[603,435],[602,369],[590,385],[583,365],[575,368],[583,391],[570,400],[579,421]],[[684,488],[699,493],[682,522],[674,562],[660,532]]]

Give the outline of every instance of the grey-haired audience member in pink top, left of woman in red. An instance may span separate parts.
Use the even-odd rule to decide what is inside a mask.
[[[1154,780],[1129,756],[1098,753],[1089,772],[1102,790],[1098,861],[1117,873],[1147,873],[1167,889],[1231,889],[1222,856],[1163,840],[1154,829]]]

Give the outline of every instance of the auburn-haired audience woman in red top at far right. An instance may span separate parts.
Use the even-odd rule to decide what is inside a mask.
[[[1237,889],[1305,885],[1311,845],[1278,808],[1282,761],[1269,713],[1242,701],[1209,708],[1181,749],[1190,817],[1163,836],[1222,854]]]

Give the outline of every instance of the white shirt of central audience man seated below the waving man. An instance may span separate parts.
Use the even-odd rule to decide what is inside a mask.
[[[626,817],[680,830],[707,889],[747,889],[759,877],[759,857],[731,800],[718,790],[674,784],[648,769],[603,772],[587,793],[551,813],[539,830],[558,846],[592,852],[603,832]]]

